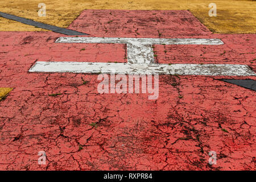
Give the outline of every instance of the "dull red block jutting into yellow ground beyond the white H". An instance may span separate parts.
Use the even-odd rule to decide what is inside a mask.
[[[184,10],[84,10],[69,28],[98,37],[203,38],[212,34]]]

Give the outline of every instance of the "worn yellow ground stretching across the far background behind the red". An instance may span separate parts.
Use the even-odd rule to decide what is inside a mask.
[[[208,15],[209,3],[216,3],[217,16]],[[38,4],[46,4],[46,17],[38,16]],[[0,11],[59,27],[68,25],[84,9],[190,10],[211,31],[256,33],[256,1],[245,0],[0,0]],[[13,20],[0,18],[0,31],[42,31]]]

